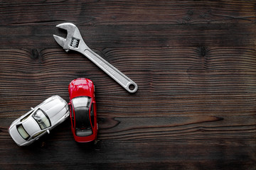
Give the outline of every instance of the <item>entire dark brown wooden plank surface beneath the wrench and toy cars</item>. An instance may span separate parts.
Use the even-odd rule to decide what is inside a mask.
[[[135,81],[129,94],[53,34]],[[256,1],[0,1],[0,169],[256,169]],[[97,141],[70,120],[29,147],[11,122],[78,77],[95,83]]]

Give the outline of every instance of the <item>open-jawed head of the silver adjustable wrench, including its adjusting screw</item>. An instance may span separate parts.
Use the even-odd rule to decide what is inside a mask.
[[[80,52],[79,46],[82,41],[82,36],[78,28],[73,23],[60,23],[57,28],[67,30],[67,37],[62,38],[58,35],[53,35],[53,38],[58,42],[58,44],[63,47],[65,52],[69,50],[75,50]]]

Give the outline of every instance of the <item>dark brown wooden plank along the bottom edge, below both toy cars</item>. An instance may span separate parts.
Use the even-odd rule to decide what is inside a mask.
[[[54,140],[42,147],[12,149],[17,152],[16,157],[10,157],[9,152],[4,152],[6,157],[1,162],[6,162],[4,167],[9,166],[11,169],[17,166],[21,169],[52,169],[52,166],[55,169],[70,169],[74,166],[86,169],[253,169],[255,164],[248,157],[248,154],[253,154],[252,150],[245,145],[171,145],[170,142],[158,142],[157,145],[151,142],[100,142],[89,146],[75,142],[71,144],[72,149],[70,142]],[[53,152],[54,156],[46,159]],[[35,154],[38,156],[35,157]],[[76,157],[75,154],[82,157]],[[70,155],[75,159],[70,158]],[[40,163],[35,164],[38,159]],[[85,161],[89,159],[90,162]]]

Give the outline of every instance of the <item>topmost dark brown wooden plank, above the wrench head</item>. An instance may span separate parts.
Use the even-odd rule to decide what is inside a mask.
[[[6,25],[254,23],[255,1],[3,1]],[[35,10],[37,9],[37,10]],[[24,12],[26,11],[26,13]]]

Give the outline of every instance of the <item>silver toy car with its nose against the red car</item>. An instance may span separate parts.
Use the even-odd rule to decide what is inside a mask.
[[[30,145],[46,132],[50,133],[51,129],[69,115],[68,103],[60,96],[51,96],[14,120],[9,127],[9,134],[18,146]]]

